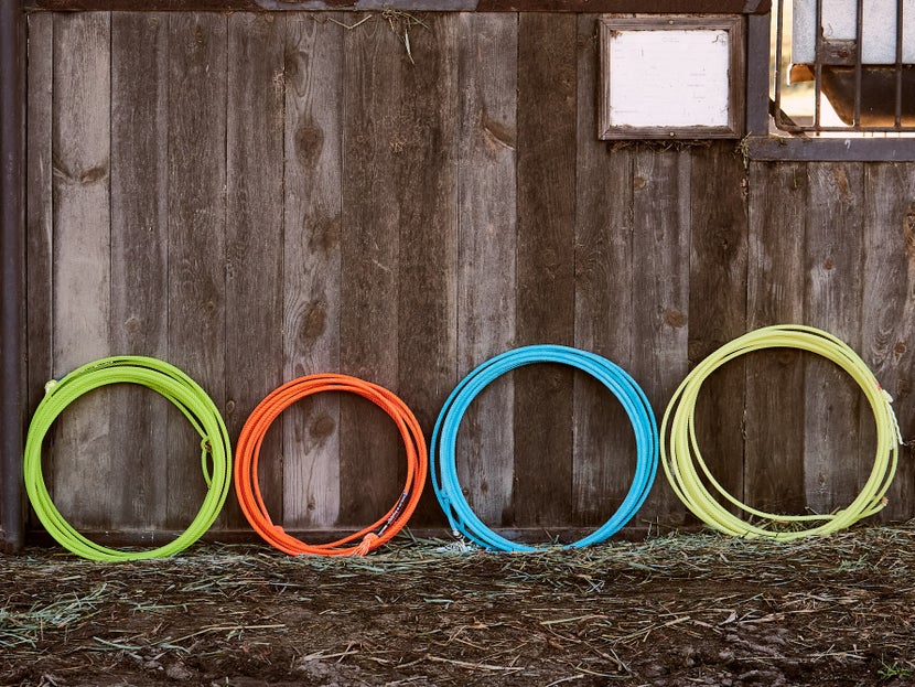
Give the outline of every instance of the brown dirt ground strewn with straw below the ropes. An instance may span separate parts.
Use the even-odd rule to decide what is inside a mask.
[[[0,685],[915,685],[915,523],[362,559],[0,556]]]

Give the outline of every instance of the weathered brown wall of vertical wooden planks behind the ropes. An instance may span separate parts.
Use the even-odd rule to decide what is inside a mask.
[[[272,388],[326,371],[391,388],[430,431],[473,366],[553,342],[628,369],[660,417],[718,345],[803,322],[862,353],[912,438],[915,163],[607,146],[595,17],[421,22],[31,15],[31,407],[132,353],[198,380],[233,440]],[[840,506],[872,460],[852,383],[796,352],[729,365],[699,422],[715,474],[764,507]],[[601,523],[634,469],[621,409],[551,366],[493,384],[459,449],[475,509],[508,529]],[[271,430],[263,491],[290,529],[348,528],[395,501],[400,461],[379,410],[321,395]],[[75,526],[137,538],[182,529],[203,491],[186,421],[144,389],[75,404],[46,473]],[[885,519],[915,515],[908,449],[890,496]],[[246,529],[230,502],[217,529]],[[690,522],[660,475],[634,526]],[[431,490],[412,524],[443,524]]]

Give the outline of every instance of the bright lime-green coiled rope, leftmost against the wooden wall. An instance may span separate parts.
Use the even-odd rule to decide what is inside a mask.
[[[108,384],[139,384],[161,394],[174,404],[201,436],[201,466],[207,492],[190,527],[176,539],[152,550],[121,551],[100,546],[73,528],[54,506],[44,484],[41,451],[44,437],[54,420],[76,398]],[[142,356],[117,356],[95,361],[73,371],[60,382],[45,385],[25,441],[23,472],[25,491],[42,525],[64,548],[90,560],[139,560],[176,554],[209,528],[219,514],[229,490],[232,449],[225,422],[213,400],[176,367]]]

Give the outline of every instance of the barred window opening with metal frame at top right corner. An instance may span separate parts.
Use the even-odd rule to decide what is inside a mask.
[[[915,0],[776,0],[764,21],[750,21],[751,157],[915,159]]]

